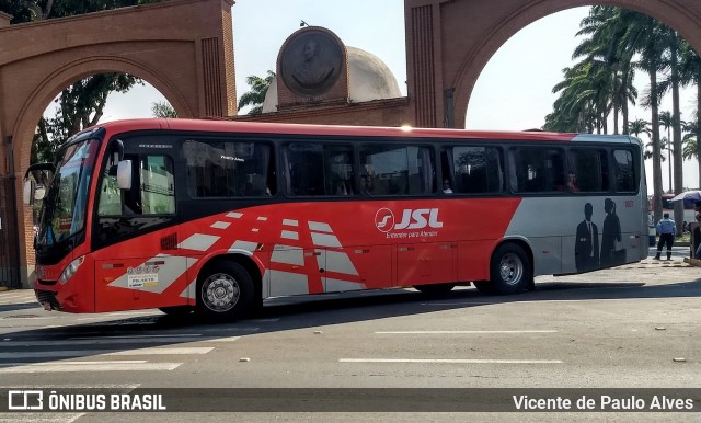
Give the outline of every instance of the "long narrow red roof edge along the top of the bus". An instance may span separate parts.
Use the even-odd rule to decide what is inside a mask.
[[[499,138],[509,140],[532,141],[584,141],[584,142],[637,142],[634,137],[625,135],[596,135],[576,133],[549,133],[540,130],[469,130],[449,128],[414,128],[381,126],[343,126],[281,124],[261,122],[240,122],[227,119],[181,119],[181,118],[140,118],[104,123],[99,125],[110,132],[130,132],[149,129],[170,129],[177,132],[215,132],[242,134],[275,135],[327,135],[327,136],[366,136],[366,137],[411,137],[411,138],[453,138],[479,139]]]

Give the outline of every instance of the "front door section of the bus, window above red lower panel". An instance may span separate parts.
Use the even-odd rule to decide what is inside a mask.
[[[122,159],[131,162],[129,190],[117,186],[117,155],[110,155],[104,163],[93,229],[96,311],[187,304],[180,296],[187,259],[177,254],[173,226],[172,151],[163,141],[125,142]]]

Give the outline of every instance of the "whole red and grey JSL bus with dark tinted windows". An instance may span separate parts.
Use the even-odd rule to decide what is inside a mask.
[[[77,134],[27,176],[46,168],[35,291],[68,312],[235,319],[283,296],[515,294],[647,255],[628,136],[134,119]]]

